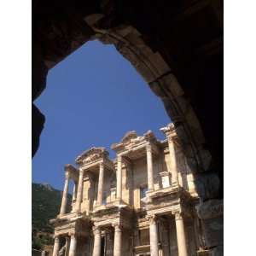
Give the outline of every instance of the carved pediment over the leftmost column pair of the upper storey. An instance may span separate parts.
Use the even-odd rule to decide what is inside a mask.
[[[90,163],[95,160],[102,159],[104,157],[108,157],[108,151],[106,150],[106,148],[93,147],[84,151],[82,154],[80,154],[76,159],[76,163],[77,164]]]

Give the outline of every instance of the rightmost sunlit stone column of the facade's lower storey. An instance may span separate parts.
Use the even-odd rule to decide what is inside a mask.
[[[188,256],[189,253],[188,253],[187,244],[186,244],[183,216],[181,212],[175,212],[175,222],[176,222],[176,231],[177,231],[178,256]]]

